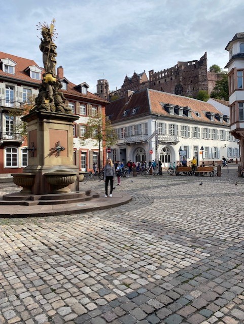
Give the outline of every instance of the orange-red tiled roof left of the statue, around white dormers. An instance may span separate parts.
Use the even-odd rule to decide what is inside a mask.
[[[11,77],[11,78],[15,78],[15,79],[23,80],[23,81],[28,81],[28,82],[36,83],[36,84],[41,83],[41,80],[32,79],[29,76],[28,72],[24,72],[24,70],[28,66],[31,66],[31,65],[38,66],[38,64],[35,61],[25,59],[23,57],[15,56],[12,54],[4,53],[4,52],[0,52],[0,60],[1,59],[11,59],[17,64],[15,66],[15,74],[6,73],[2,69],[0,69],[0,76],[7,76],[7,77]],[[38,67],[44,71],[44,69],[42,67],[40,67],[40,66],[38,66]]]

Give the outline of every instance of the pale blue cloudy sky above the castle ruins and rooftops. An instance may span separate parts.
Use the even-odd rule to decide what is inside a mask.
[[[178,61],[208,67],[228,62],[225,47],[244,32],[243,0],[0,0],[0,51],[40,66],[36,25],[56,20],[57,66],[75,84],[96,91],[100,78],[119,89],[134,71],[160,71]]]

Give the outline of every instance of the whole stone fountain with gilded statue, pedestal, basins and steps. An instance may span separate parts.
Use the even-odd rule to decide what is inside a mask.
[[[65,106],[56,79],[54,23],[39,25],[45,72],[36,104],[22,117],[27,123],[28,166],[23,173],[12,174],[13,182],[23,189],[4,195],[1,205],[64,204],[93,197],[90,190],[79,191],[79,170],[73,164],[73,123],[79,116]]]

